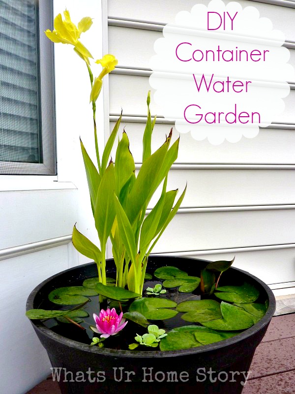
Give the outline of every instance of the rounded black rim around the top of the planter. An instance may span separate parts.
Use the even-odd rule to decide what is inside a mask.
[[[187,258],[187,257],[182,257],[182,256],[164,256],[160,255],[161,257],[169,257],[169,258],[181,258],[185,260],[198,260],[198,261],[203,261],[207,262],[207,260],[203,259],[194,259],[194,258]],[[157,255],[151,255],[150,257],[160,257]],[[113,259],[107,259],[107,261],[111,261]],[[65,269],[55,275],[52,275],[51,277],[45,279],[43,282],[41,282],[38,286],[36,286],[31,293],[29,294],[27,304],[26,304],[26,310],[32,309],[33,308],[33,301],[37,293],[42,289],[42,287],[50,282],[51,280],[59,277],[60,274],[63,274],[65,272],[70,272],[74,271],[79,268],[87,267],[91,264],[95,264],[94,262],[92,263],[86,263],[86,264],[81,264],[77,265],[75,267],[71,267],[68,269]],[[161,350],[153,350],[153,351],[140,351],[140,350],[116,350],[116,349],[110,349],[110,348],[99,348],[96,346],[91,346],[87,345],[82,342],[75,341],[73,339],[68,339],[60,334],[55,333],[52,331],[50,328],[47,328],[40,320],[30,320],[31,324],[34,326],[35,330],[40,331],[43,335],[47,336],[49,339],[54,340],[58,342],[59,344],[62,344],[64,346],[68,347],[73,347],[76,349],[79,349],[80,351],[84,352],[89,352],[97,355],[102,355],[102,356],[117,356],[121,358],[141,358],[141,359],[150,359],[150,358],[172,358],[172,357],[177,357],[177,356],[186,356],[186,355],[191,355],[191,354],[204,354],[206,352],[212,352],[216,349],[223,349],[223,348],[228,348],[231,347],[234,343],[241,342],[249,337],[251,337],[253,334],[258,332],[259,330],[263,329],[268,323],[270,322],[271,318],[273,317],[273,314],[275,312],[275,297],[270,290],[270,288],[259,278],[256,276],[250,274],[247,271],[244,271],[242,269],[236,268],[236,267],[230,267],[229,269],[231,270],[236,270],[238,272],[244,273],[245,275],[249,276],[252,280],[258,282],[266,291],[266,294],[268,296],[268,308],[266,311],[266,314],[264,317],[254,324],[252,327],[247,328],[246,330],[242,331],[241,333],[235,335],[234,337],[224,339],[219,342],[215,342],[209,345],[203,345],[199,346],[196,348],[190,348],[190,349],[183,349],[183,350],[167,350],[167,351],[161,351]]]

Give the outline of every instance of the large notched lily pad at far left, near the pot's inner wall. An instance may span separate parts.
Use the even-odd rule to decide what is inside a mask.
[[[87,296],[97,296],[98,293],[93,289],[83,286],[59,287],[53,290],[48,298],[50,301],[59,305],[75,305],[87,301]]]

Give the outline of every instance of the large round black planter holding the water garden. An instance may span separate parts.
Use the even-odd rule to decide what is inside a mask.
[[[151,256],[148,269],[175,265],[190,275],[199,275],[205,263],[204,260]],[[31,292],[27,310],[38,308],[53,289],[95,275],[96,265],[89,263],[52,276]],[[269,301],[266,315],[233,338],[193,349],[161,352],[98,348],[67,339],[42,322],[32,320],[52,366],[59,368],[55,371],[60,372],[62,394],[241,393],[255,349],[274,314],[275,299],[266,284],[248,272],[230,268],[222,279],[223,284],[236,281],[254,284],[262,298]]]

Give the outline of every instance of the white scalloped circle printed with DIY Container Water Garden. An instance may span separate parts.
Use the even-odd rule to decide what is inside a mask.
[[[284,111],[295,80],[284,42],[253,6],[212,0],[177,13],[150,59],[161,115],[213,145],[254,138]]]

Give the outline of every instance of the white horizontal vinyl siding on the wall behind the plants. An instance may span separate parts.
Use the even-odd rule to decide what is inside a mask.
[[[129,136],[137,168],[141,164],[154,41],[177,12],[190,11],[196,2],[105,2],[105,52],[118,58],[118,66],[109,76],[110,129],[122,107],[122,128]],[[207,5],[208,1],[198,3]],[[295,66],[295,2],[239,3],[255,6],[261,17],[270,18],[273,27],[285,33],[284,45]],[[270,127],[260,129],[255,138],[213,146],[207,140],[194,140],[189,133],[180,135],[178,159],[168,186],[182,190],[187,181],[187,193],[153,253],[211,260],[236,255],[235,266],[262,278],[273,289],[295,285],[295,81],[288,82],[291,93],[285,99],[284,113]],[[152,99],[151,112],[158,119],[153,132],[156,149],[173,125],[161,118]],[[173,138],[178,135],[174,131]]]

